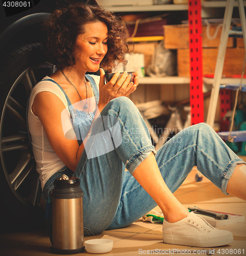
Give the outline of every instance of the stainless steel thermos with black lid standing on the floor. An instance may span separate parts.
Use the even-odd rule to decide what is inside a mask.
[[[83,191],[78,178],[61,177],[54,181],[52,198],[52,247],[57,254],[84,251]]]

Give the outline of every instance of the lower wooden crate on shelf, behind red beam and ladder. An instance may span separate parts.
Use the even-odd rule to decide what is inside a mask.
[[[226,51],[223,75],[238,75],[242,73],[244,48],[228,48]],[[203,48],[203,74],[214,74],[218,55],[218,48]],[[244,69],[244,73],[246,67]],[[190,76],[189,49],[177,50],[177,73],[178,76]]]

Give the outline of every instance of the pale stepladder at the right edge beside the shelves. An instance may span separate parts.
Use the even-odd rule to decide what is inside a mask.
[[[235,29],[230,30],[231,26],[231,19],[232,19],[232,11],[234,7],[235,0],[227,0],[225,16],[223,19],[223,26],[222,32],[220,37],[220,44],[218,49],[217,61],[215,66],[214,72],[214,81],[212,86],[211,98],[209,103],[209,110],[208,110],[208,117],[207,123],[213,127],[216,106],[218,101],[219,89],[220,89],[220,79],[222,76],[223,65],[225,61],[226,49],[227,49],[227,41],[228,37],[243,37],[244,48],[245,48],[245,57],[246,57],[246,19],[245,19],[245,12],[243,6],[243,0],[238,1],[238,8],[241,20],[241,27],[235,27]],[[229,90],[236,90],[237,94],[238,91],[244,91],[246,89],[246,84],[242,84],[243,78],[243,71],[245,66],[245,58],[242,70],[242,77],[240,84],[226,84],[223,88]],[[236,96],[237,96],[236,94]],[[234,113],[235,113],[236,103],[234,106]],[[234,116],[232,117],[233,122]],[[232,127],[231,127],[232,130]],[[222,139],[229,140],[231,142],[238,142],[238,141],[246,141],[246,131],[231,131],[230,132],[221,132],[218,133]]]

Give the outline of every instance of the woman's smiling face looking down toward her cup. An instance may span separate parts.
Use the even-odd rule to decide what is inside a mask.
[[[107,53],[108,31],[102,22],[88,23],[75,43],[75,67],[80,72],[96,72]]]

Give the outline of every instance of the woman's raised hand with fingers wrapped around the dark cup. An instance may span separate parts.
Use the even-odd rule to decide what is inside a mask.
[[[111,80],[104,84],[105,81],[105,72],[103,69],[100,69],[100,82],[99,82],[99,103],[98,108],[101,110],[104,106],[112,99],[115,99],[120,96],[128,96],[137,89],[139,84],[138,72],[135,72],[134,83],[130,82],[131,76],[127,76],[127,72],[122,74],[121,78],[117,81],[120,72],[111,78]]]

